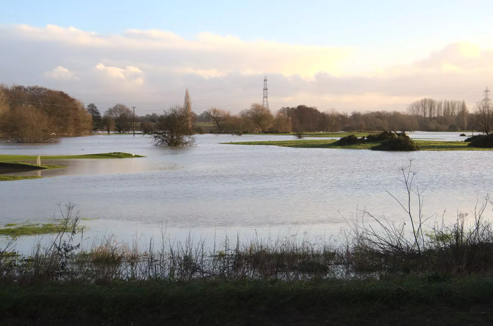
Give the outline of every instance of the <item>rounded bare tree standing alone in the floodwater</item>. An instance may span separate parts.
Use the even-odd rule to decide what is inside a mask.
[[[155,146],[191,146],[195,143],[190,128],[187,108],[175,105],[159,116],[154,130],[149,131],[150,142]]]

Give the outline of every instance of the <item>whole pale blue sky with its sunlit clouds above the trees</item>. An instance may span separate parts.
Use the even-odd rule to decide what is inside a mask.
[[[59,89],[103,112],[262,101],[324,111],[481,100],[493,80],[486,1],[0,0],[0,83]]]

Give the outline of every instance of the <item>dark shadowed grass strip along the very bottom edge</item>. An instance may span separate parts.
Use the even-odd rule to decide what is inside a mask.
[[[489,325],[493,280],[115,281],[0,287],[3,325]]]

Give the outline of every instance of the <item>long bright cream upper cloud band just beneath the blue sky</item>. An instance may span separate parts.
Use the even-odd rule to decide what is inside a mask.
[[[349,48],[301,46],[265,40],[244,41],[238,37],[199,33],[193,40],[171,32],[130,30],[123,35],[100,35],[73,27],[27,25],[11,29],[20,37],[34,41],[55,42],[93,51],[125,51],[152,53],[151,65],[184,66],[187,73],[209,78],[217,73],[207,71],[293,74],[311,78],[317,72],[338,72],[337,64],[350,52]],[[208,65],[207,67],[204,66]]]

